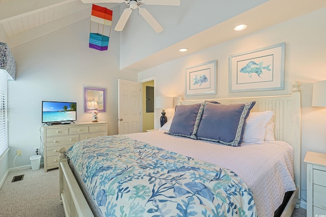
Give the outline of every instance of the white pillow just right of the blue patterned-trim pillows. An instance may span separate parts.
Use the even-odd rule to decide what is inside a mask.
[[[267,123],[272,119],[273,115],[273,111],[250,112],[244,126],[242,142],[263,144]]]

